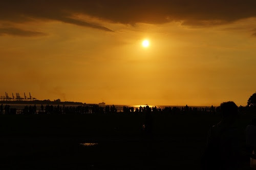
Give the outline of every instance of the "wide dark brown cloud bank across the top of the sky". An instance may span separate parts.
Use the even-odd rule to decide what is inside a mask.
[[[179,20],[185,25],[212,26],[255,17],[255,7],[255,0],[3,0],[0,20],[26,22],[31,19],[52,19],[112,31],[90,22],[71,19],[75,14],[85,14],[122,24],[160,24]]]

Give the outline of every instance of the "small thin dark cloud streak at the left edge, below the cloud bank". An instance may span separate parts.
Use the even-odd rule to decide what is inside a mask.
[[[0,28],[0,36],[1,35],[15,35],[15,36],[42,36],[47,35],[43,32],[37,32],[37,31],[27,31],[23,29],[18,28]]]

